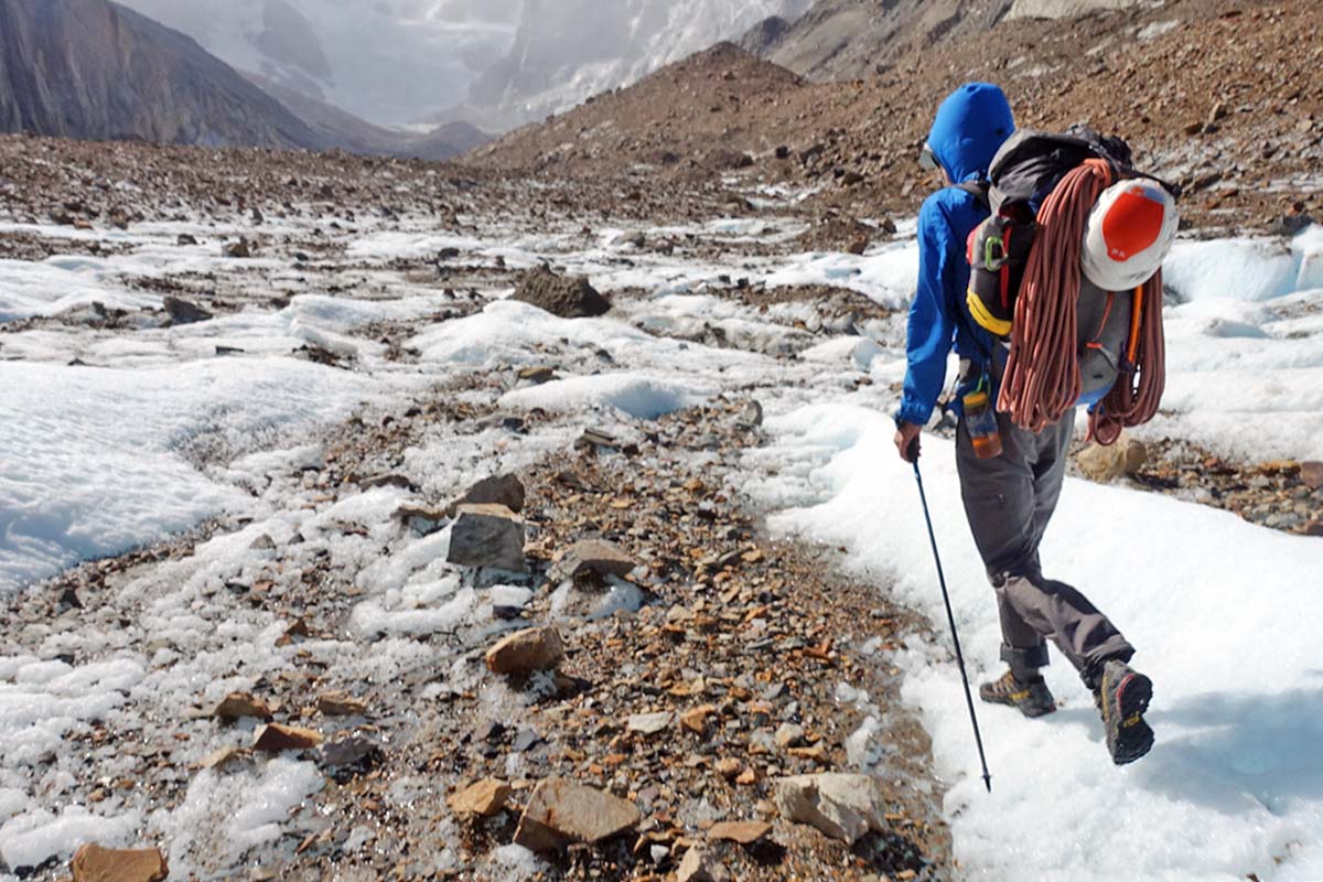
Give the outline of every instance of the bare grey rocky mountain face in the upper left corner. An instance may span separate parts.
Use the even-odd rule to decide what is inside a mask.
[[[329,145],[194,41],[106,0],[0,3],[0,131]]]

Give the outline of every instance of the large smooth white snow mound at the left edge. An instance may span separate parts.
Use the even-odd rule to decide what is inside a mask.
[[[347,415],[376,386],[304,361],[0,364],[0,592],[188,529],[242,495],[193,464]]]

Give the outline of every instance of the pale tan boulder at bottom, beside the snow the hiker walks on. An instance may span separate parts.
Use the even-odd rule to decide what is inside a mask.
[[[777,782],[777,811],[853,845],[868,830],[884,832],[884,797],[868,775],[795,775]]]

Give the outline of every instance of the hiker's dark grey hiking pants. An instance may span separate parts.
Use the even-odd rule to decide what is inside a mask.
[[[1002,455],[979,459],[960,421],[955,464],[974,542],[996,590],[1002,659],[1023,678],[1048,664],[1052,640],[1091,688],[1103,661],[1129,661],[1134,648],[1080,591],[1044,578],[1039,563],[1039,542],[1061,496],[1074,411],[1039,435],[1005,414],[998,414],[998,426]]]

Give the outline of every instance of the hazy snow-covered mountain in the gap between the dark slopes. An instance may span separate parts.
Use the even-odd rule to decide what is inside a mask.
[[[810,0],[124,0],[232,66],[381,126],[511,127]]]

